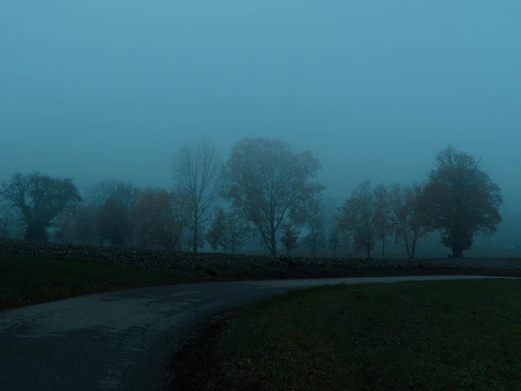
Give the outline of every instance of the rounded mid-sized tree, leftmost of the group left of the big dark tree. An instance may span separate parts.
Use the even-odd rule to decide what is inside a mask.
[[[345,239],[353,242],[354,251],[364,251],[367,259],[371,258],[378,237],[374,216],[374,193],[371,191],[371,181],[366,179],[354,188],[351,198],[338,208],[336,224]]]

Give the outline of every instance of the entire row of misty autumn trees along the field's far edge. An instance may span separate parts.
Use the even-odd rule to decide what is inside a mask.
[[[273,256],[277,246],[290,253],[304,245],[312,253],[328,246],[335,255],[349,246],[367,258],[378,243],[385,257],[392,239],[414,258],[419,240],[438,231],[459,258],[476,236],[491,236],[501,223],[500,188],[479,160],[451,146],[421,183],[362,181],[328,227],[320,169],[311,152],[293,152],[282,139],[243,138],[222,161],[215,145],[200,138],[173,155],[170,190],[104,180],[80,195],[70,178],[18,173],[0,186],[0,236],[46,241],[52,228],[59,241],[193,252],[208,243],[232,253],[256,240]]]

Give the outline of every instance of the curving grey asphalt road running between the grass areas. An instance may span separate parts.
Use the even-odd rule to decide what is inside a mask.
[[[0,391],[157,390],[167,356],[212,313],[324,284],[476,279],[372,277],[215,282],[114,291],[0,313]]]

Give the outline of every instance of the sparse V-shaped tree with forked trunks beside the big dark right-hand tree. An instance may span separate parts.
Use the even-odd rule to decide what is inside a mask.
[[[393,184],[388,191],[390,223],[395,243],[405,243],[409,258],[414,258],[419,239],[426,238],[430,231],[419,208],[422,195],[419,185],[402,188]]]

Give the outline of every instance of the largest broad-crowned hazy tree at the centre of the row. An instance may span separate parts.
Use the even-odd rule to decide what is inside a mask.
[[[311,152],[293,153],[284,140],[243,138],[222,169],[221,195],[253,224],[275,256],[277,233],[306,222],[325,188],[310,181],[320,168]]]

